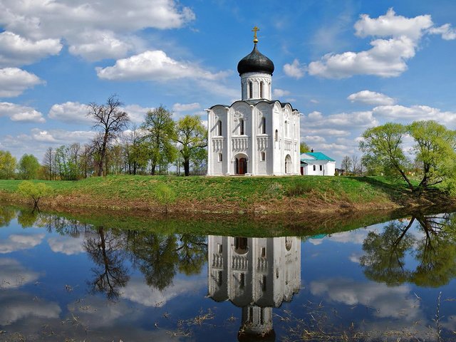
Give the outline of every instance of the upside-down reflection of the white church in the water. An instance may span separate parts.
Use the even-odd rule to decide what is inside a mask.
[[[242,308],[239,341],[274,341],[272,309],[301,287],[299,237],[208,237],[208,291]]]

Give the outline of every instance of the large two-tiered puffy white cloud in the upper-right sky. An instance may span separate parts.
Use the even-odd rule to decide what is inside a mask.
[[[433,30],[433,33],[440,33],[447,39],[455,34],[450,26],[433,29],[432,26],[430,15],[405,18],[397,16],[393,9],[376,19],[363,14],[355,24],[356,36],[382,38],[371,41],[373,47],[367,51],[328,53],[320,61],[309,64],[309,74],[326,78],[347,78],[354,75],[399,76],[407,70],[407,61],[415,56],[425,33],[432,33]]]

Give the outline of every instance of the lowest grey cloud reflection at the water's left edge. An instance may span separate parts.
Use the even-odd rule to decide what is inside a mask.
[[[11,324],[28,317],[58,318],[61,309],[56,303],[35,300],[30,294],[17,291],[0,293],[0,324]]]

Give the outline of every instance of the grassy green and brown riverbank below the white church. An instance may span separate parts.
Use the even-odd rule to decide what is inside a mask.
[[[19,180],[0,180],[7,202],[28,202]],[[80,181],[36,181],[51,187],[43,209],[108,209],[169,215],[324,215],[451,204],[441,192],[416,198],[385,177],[167,177],[116,175]],[[160,195],[157,190],[169,190]]]

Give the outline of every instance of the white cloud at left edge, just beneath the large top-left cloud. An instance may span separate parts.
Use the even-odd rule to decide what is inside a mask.
[[[31,41],[16,33],[0,33],[0,67],[24,66],[61,51],[59,39]]]

